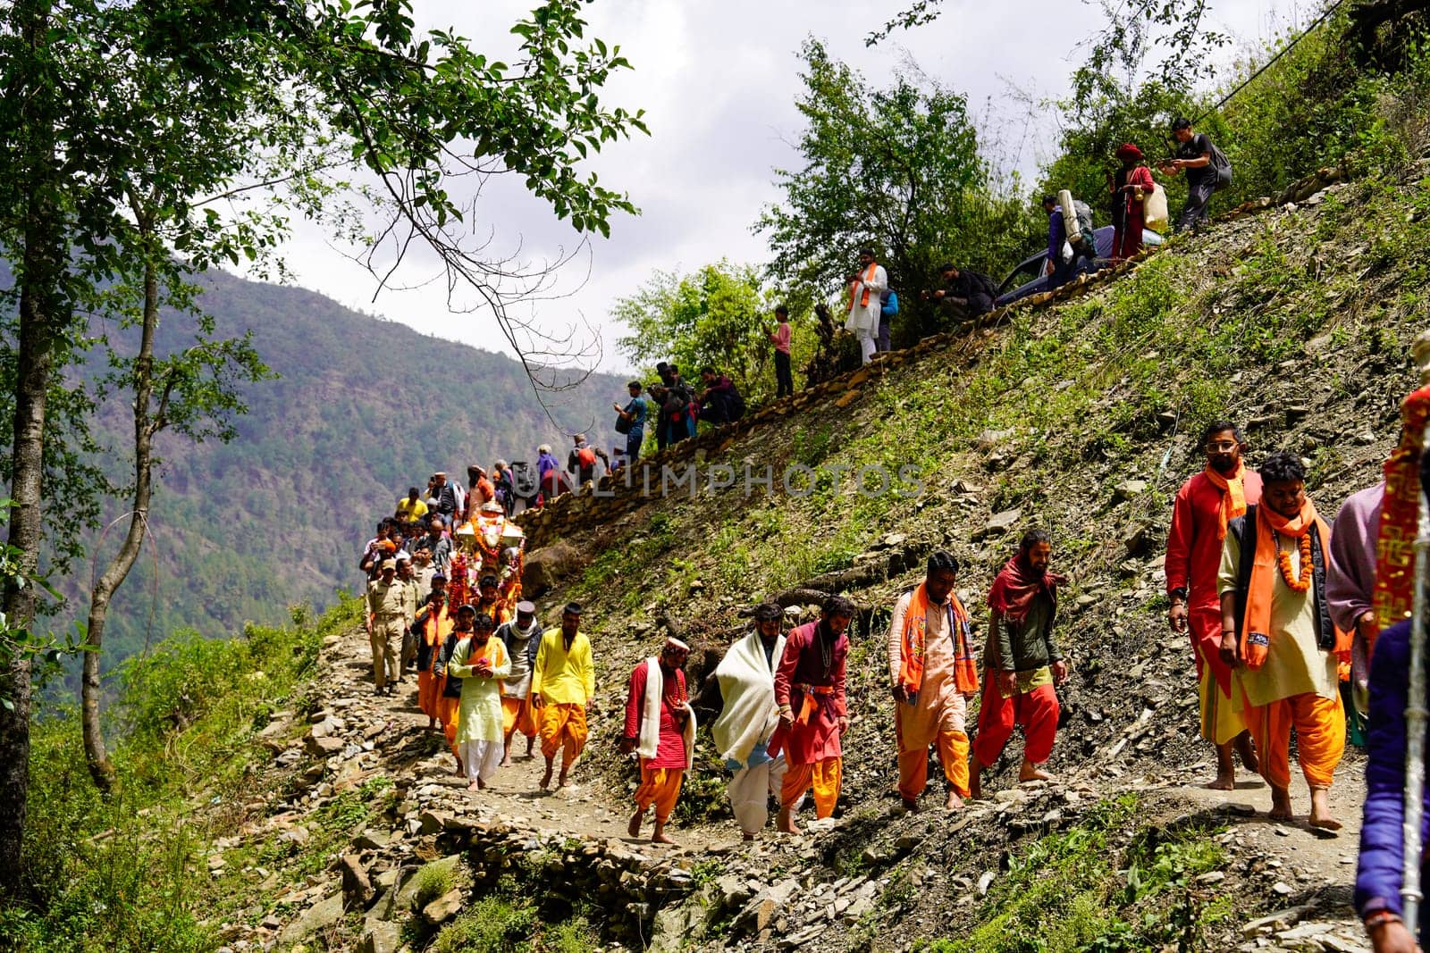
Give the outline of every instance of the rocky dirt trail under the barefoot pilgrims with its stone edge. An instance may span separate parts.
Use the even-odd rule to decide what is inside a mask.
[[[1264,900],[1261,909],[1274,907],[1231,924],[1216,949],[1369,950],[1350,909],[1363,793],[1363,763],[1354,757],[1333,789],[1331,803],[1347,823],[1338,836],[1304,823],[1270,823],[1260,780],[1243,777],[1233,793],[1200,787],[1211,773],[1210,759],[1155,776],[1145,762],[1113,760],[1070,766],[1051,783],[1028,786],[1010,786],[1004,773],[990,784],[988,800],[960,814],[937,809],[935,784],[925,797],[928,809],[914,814],[894,797],[865,799],[844,807],[837,820],[807,820],[798,837],[771,832],[742,843],[734,823],[722,822],[678,827],[681,846],[658,847],[625,836],[629,794],[595,770],[578,766],[571,786],[541,793],[539,752],[521,757],[521,739],[512,767],[488,790],[469,793],[445,739],[426,732],[413,682],[396,697],[376,697],[370,672],[360,630],[329,639],[312,713],[277,713],[273,726],[283,729],[266,732],[275,766],[302,780],[252,833],[279,830],[279,837],[306,840],[305,819],[315,809],[375,777],[390,779],[393,807],[347,832],[325,857],[326,870],[280,892],[275,913],[256,929],[232,930],[227,949],[235,953],[293,949],[313,939],[330,950],[422,949],[482,894],[480,884],[533,863],[546,886],[569,882],[603,910],[625,914],[611,917],[625,923],[623,934],[619,926],[611,934],[622,949],[848,949],[859,929],[878,923],[898,882],[895,867],[909,870],[915,887],[934,890],[948,880],[961,889],[960,903],[977,903],[1005,876],[1001,854],[1010,842],[1067,827],[1103,799],[1128,792],[1140,796],[1140,812],[1150,812],[1154,823],[1224,829],[1217,839],[1227,852],[1226,870],[1203,874],[1201,886],[1251,890]],[[593,727],[612,717],[598,714]],[[601,736],[593,732],[593,743],[608,743],[595,740]],[[1293,794],[1304,813],[1304,789]],[[974,869],[955,870],[950,860],[960,842],[991,847]],[[222,862],[222,850],[216,856]],[[445,870],[435,877],[436,896],[423,893],[425,870]],[[904,929],[938,936],[951,927],[940,919]],[[917,936],[889,936],[877,949],[911,949]]]

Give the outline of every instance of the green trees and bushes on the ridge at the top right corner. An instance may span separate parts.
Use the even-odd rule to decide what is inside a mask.
[[[1211,93],[1195,89],[1193,73],[1167,70],[1167,64],[1147,71],[1155,21],[1163,29],[1175,21],[1181,39],[1204,51],[1224,44],[1214,31],[1195,34],[1204,6],[1203,0],[1178,0],[1148,19],[1157,6],[1140,1],[1110,14],[1088,61],[1074,74],[1072,96],[1060,104],[1071,121],[1058,157],[1044,170],[1044,191],[1071,189],[1094,209],[1105,204],[1094,197],[1107,196],[1117,146],[1140,144],[1153,164],[1170,157],[1174,143],[1168,127],[1177,116],[1200,117],[1195,129],[1231,160],[1233,183],[1217,194],[1217,209],[1273,196],[1340,160],[1354,160],[1358,171],[1404,160],[1406,144],[1423,129],[1423,114],[1413,104],[1430,90],[1430,57],[1423,46],[1409,43],[1396,69],[1367,69],[1351,40],[1348,13],[1340,10],[1304,36],[1284,31],[1271,37]],[[1164,20],[1168,11],[1177,19]],[[1273,57],[1278,59],[1271,63]],[[1208,61],[1200,54],[1190,60]],[[1208,111],[1228,93],[1234,94],[1220,111]],[[1185,196],[1184,176],[1160,179],[1175,216]]]

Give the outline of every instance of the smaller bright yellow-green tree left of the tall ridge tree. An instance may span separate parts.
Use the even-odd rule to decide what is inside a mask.
[[[631,330],[616,346],[636,364],[669,360],[688,381],[699,381],[701,367],[712,366],[752,400],[775,390],[766,333],[778,303],[758,269],[722,259],[695,274],[656,271],[611,313]]]

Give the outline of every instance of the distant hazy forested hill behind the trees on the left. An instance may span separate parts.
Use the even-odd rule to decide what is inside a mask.
[[[222,273],[206,281],[203,306],[217,333],[252,329],[280,379],[246,389],[250,411],[232,443],[162,443],[157,546],[146,549],[110,614],[112,662],[174,629],[222,636],[245,620],[280,620],[295,603],[329,604],[337,587],[356,584],[358,549],[375,522],[433,470],[465,480],[469,463],[533,461],[539,443],[563,456],[576,430],[615,443],[611,401],[625,394],[625,379],[596,374],[549,394],[552,421],[509,357],[425,337],[312,291]],[[157,351],[190,343],[190,327],[163,321]],[[129,413],[116,397],[102,414],[119,474],[132,466]],[[90,576],[86,560],[59,580],[82,596],[66,619],[83,617]]]

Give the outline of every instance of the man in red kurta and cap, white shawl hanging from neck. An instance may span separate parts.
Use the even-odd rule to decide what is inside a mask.
[[[631,673],[626,694],[626,724],[621,753],[641,756],[641,786],[635,789],[635,814],[628,830],[641,836],[645,812],[655,804],[651,842],[674,844],[665,824],[681,796],[685,769],[695,753],[695,712],[685,692],[685,660],[691,649],[679,639],[666,639],[659,659],[642,662]]]

